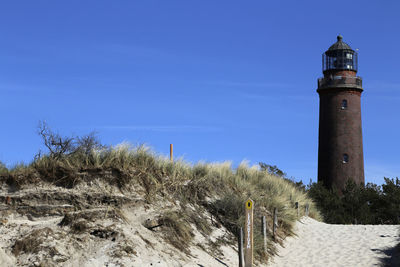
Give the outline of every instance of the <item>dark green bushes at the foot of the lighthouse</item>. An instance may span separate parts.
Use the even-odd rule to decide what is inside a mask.
[[[385,184],[346,183],[342,194],[314,183],[308,195],[315,201],[325,222],[337,224],[399,224],[400,181],[385,178]]]

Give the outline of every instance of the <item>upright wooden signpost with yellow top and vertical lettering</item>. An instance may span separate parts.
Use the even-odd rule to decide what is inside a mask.
[[[254,202],[250,198],[246,201],[246,213],[245,213],[245,254],[244,254],[244,266],[253,266],[253,209]]]

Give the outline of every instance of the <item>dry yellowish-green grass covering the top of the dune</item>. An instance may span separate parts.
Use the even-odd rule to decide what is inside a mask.
[[[321,219],[313,201],[306,193],[288,181],[250,167],[246,162],[236,169],[230,162],[190,164],[183,160],[171,162],[156,155],[145,146],[132,147],[122,144],[89,153],[72,153],[61,158],[43,155],[28,165],[11,169],[0,164],[0,180],[17,190],[29,184],[47,182],[72,188],[94,178],[118,186],[122,191],[130,185],[140,185],[148,202],[165,198],[179,203],[178,213],[165,211],[163,220],[166,229],[174,237],[170,241],[177,246],[189,244],[195,225],[205,235],[209,234],[209,219],[195,216],[188,206],[197,207],[213,215],[216,224],[224,225],[235,236],[244,227],[244,203],[248,198],[255,202],[255,249],[256,258],[265,261],[268,257],[262,249],[260,217],[267,216],[269,232],[272,229],[272,211],[278,208],[279,231],[283,238],[292,234],[297,220],[295,202],[300,203],[301,215],[310,205],[310,216]],[[191,212],[191,213],[190,213]],[[175,220],[175,219],[176,220]],[[208,220],[208,221],[207,221]],[[268,242],[268,253],[274,254],[275,244]]]

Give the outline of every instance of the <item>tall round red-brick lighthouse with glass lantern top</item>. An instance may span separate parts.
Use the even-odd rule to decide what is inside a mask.
[[[318,181],[342,191],[352,179],[364,184],[361,130],[362,79],[357,77],[357,52],[342,41],[322,54],[323,78],[318,79]]]

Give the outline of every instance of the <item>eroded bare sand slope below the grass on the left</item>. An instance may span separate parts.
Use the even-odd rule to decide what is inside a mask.
[[[0,185],[0,267],[238,265],[235,237],[211,220],[208,235],[191,225],[187,251],[166,241],[174,233],[168,228],[146,228],[148,219],[179,206],[163,199],[149,204],[136,191],[123,194],[101,180],[73,189],[37,185],[15,192]]]

